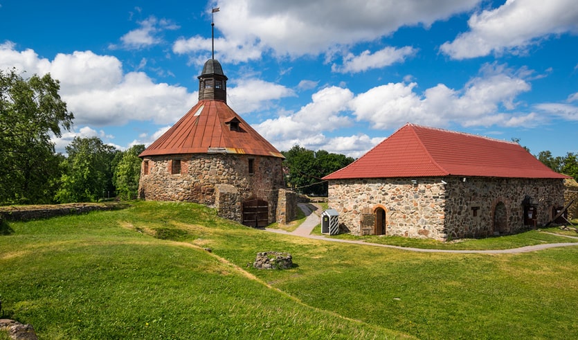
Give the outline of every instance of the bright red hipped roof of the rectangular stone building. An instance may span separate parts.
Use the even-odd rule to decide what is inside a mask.
[[[567,178],[518,143],[408,123],[323,179],[440,176]]]

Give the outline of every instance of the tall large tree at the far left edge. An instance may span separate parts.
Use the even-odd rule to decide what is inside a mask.
[[[60,177],[51,134],[60,137],[73,120],[59,90],[50,74],[0,71],[0,204],[51,202]]]

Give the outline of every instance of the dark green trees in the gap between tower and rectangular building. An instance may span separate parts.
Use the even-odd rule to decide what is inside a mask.
[[[343,154],[325,150],[315,152],[298,145],[282,154],[285,156],[284,166],[289,172],[287,186],[297,188],[306,195],[327,196],[327,182],[322,178],[354,161]]]

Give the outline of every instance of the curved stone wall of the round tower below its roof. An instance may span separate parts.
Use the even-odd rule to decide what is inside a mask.
[[[181,160],[178,175],[171,174],[173,159]],[[253,159],[253,174],[249,174],[249,159]],[[219,216],[242,222],[242,202],[259,198],[269,202],[269,222],[276,220],[278,189],[285,186],[278,157],[177,154],[147,156],[143,161],[148,161],[149,172],[144,175],[141,168],[141,199],[204,204],[217,208]]]

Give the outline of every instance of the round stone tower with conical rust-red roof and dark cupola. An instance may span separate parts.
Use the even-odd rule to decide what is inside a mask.
[[[249,226],[275,222],[285,157],[227,105],[217,60],[198,78],[197,105],[139,155],[139,197],[213,206]]]

